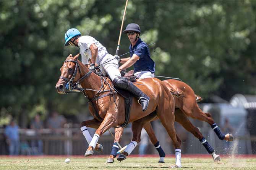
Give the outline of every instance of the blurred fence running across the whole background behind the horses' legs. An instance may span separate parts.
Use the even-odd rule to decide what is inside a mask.
[[[165,132],[164,128],[159,124],[154,124],[154,129],[157,138],[160,141],[162,148],[166,154],[173,154],[174,148]],[[89,129],[91,134],[94,134],[94,129]],[[234,141],[228,145],[228,142],[221,141],[211,128],[199,129],[204,137],[206,137],[209,144],[215,149],[218,154],[227,154],[231,152],[239,154],[252,154],[251,142],[256,141],[256,137],[250,137],[249,134],[243,136],[237,136],[239,140]],[[30,129],[20,129],[20,154],[23,155],[37,155],[38,148],[31,147],[31,141],[42,140],[43,154],[45,155],[83,155],[88,148],[87,141],[85,140],[81,130],[79,128],[63,128],[58,129],[58,132],[52,132],[50,129],[42,129],[41,135],[36,136],[35,132]],[[112,132],[113,129],[112,129]],[[179,133],[179,132],[178,132]],[[207,154],[206,149],[201,145],[199,140],[195,138],[191,133],[185,132],[187,135],[186,140],[182,140],[181,149],[182,153],[188,154]],[[121,145],[127,145],[132,138],[130,128],[125,128]],[[8,154],[8,145],[5,143],[3,136],[3,129],[0,129],[0,154]],[[113,145],[113,137],[109,132],[106,132],[100,137],[99,143],[104,146],[103,153],[95,154],[110,154],[110,150]],[[138,154],[138,147],[133,151],[133,154]],[[154,146],[149,142],[147,146],[147,154],[157,154]]]

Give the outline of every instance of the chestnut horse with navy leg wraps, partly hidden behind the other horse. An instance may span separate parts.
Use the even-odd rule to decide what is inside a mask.
[[[200,98],[198,95],[194,94],[193,89],[188,86],[188,84],[178,81],[175,79],[168,79],[164,80],[163,83],[167,86],[170,92],[172,92],[175,99],[175,121],[181,124],[187,131],[191,132],[196,138],[199,139],[199,141],[203,144],[203,146],[206,148],[207,152],[212,155],[212,158],[214,159],[214,162],[220,161],[220,156],[215,154],[214,149],[209,145],[209,143],[206,141],[206,139],[203,137],[202,133],[199,131],[198,128],[196,128],[188,119],[188,117],[191,117],[193,119],[198,119],[200,121],[205,121],[209,123],[214,129],[214,132],[217,134],[217,136],[220,138],[220,140],[227,140],[227,141],[233,141],[232,134],[227,133],[224,135],[219,127],[215,124],[214,120],[212,119],[212,116],[210,113],[204,113],[196,103],[196,98]],[[175,95],[176,94],[176,95]],[[152,126],[150,122],[147,122],[144,125],[144,129],[146,130],[147,134],[149,135],[149,138],[153,145],[156,145],[158,142],[156,135],[152,129]],[[123,128],[116,128],[115,129],[115,142],[120,143]],[[156,146],[157,147],[157,146]],[[158,145],[159,147],[159,145]],[[160,148],[161,149],[161,148]],[[113,163],[114,158],[116,157],[116,154],[114,150],[116,150],[113,146],[112,152],[107,159],[106,163]],[[162,150],[162,149],[161,149]],[[160,152],[162,152],[162,155],[165,156],[164,151],[159,151],[159,156],[161,155]],[[164,158],[160,156],[160,162],[164,162]]]

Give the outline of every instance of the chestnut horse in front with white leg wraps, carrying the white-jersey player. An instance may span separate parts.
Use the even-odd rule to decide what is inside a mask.
[[[66,89],[72,89],[77,83],[80,83],[88,96],[90,100],[89,111],[94,119],[83,121],[81,130],[89,143],[85,156],[90,156],[94,153],[93,150],[103,133],[111,127],[120,126],[125,122],[125,99],[120,94],[113,93],[110,79],[92,73],[86,65],[78,60],[78,56],[79,54],[72,57],[70,54],[66,58],[60,69],[61,76],[56,84],[56,89],[58,93],[65,94]],[[172,94],[164,83],[156,78],[141,79],[137,83],[139,85],[136,85],[150,97],[150,102],[147,110],[143,112],[133,97],[129,119],[129,122],[132,122],[133,138],[120,160],[126,159],[126,156],[138,145],[144,124],[156,116],[167,130],[175,148],[180,150],[181,141],[174,128],[175,103]],[[97,129],[93,137],[85,133],[87,132],[86,127]],[[181,155],[179,154],[176,158],[173,167],[181,167]]]

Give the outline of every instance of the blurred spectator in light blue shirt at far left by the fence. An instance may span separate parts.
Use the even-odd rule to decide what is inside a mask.
[[[19,127],[12,119],[10,125],[5,128],[6,142],[9,145],[9,155],[19,154]]]

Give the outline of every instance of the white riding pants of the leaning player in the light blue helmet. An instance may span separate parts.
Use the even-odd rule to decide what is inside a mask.
[[[111,79],[111,81],[113,81],[113,79],[115,79],[118,76],[121,77],[121,73],[118,70],[118,67],[119,67],[118,61],[114,56],[112,56],[111,54],[106,55],[102,59],[100,64],[104,62],[107,62],[107,63],[100,66],[100,70],[102,70],[104,75],[109,75],[109,78]]]

